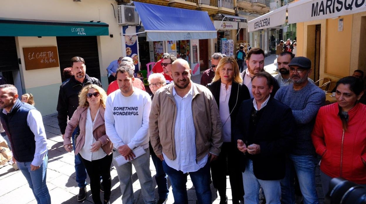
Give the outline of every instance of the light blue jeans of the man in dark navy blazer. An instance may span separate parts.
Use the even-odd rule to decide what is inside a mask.
[[[280,180],[260,180],[254,176],[253,161],[248,159],[245,171],[243,172],[244,203],[259,203],[259,187],[262,186],[266,203],[280,204],[281,185]]]

